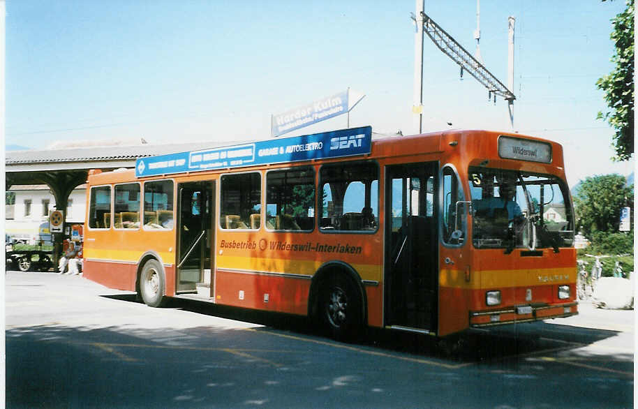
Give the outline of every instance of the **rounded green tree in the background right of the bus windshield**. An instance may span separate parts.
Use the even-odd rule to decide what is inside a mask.
[[[619,174],[588,177],[574,195],[577,226],[586,235],[594,232],[616,232],[621,208],[633,207],[633,186]]]

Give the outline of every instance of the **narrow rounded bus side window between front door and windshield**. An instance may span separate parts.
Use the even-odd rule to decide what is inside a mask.
[[[446,244],[463,244],[466,236],[466,205],[457,206],[464,199],[463,185],[454,169],[443,168],[443,241]],[[457,216],[457,210],[459,215]]]

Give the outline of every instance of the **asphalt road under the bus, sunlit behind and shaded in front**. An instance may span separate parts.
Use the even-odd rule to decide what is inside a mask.
[[[439,341],[371,331],[338,343],[306,320],[6,274],[8,408],[630,408],[633,311]]]

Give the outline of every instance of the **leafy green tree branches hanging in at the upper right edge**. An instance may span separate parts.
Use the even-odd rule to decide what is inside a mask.
[[[610,38],[616,48],[611,57],[614,70],[596,82],[609,107],[607,112],[598,112],[598,119],[616,129],[613,140],[618,161],[628,160],[634,152],[634,1],[626,3],[623,13],[611,20],[614,30]]]

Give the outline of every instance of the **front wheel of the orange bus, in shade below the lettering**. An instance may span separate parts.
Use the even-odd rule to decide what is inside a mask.
[[[359,291],[343,274],[334,274],[322,285],[319,314],[332,338],[356,341],[363,328],[362,311]]]

